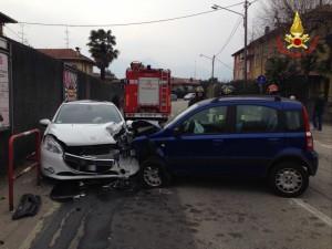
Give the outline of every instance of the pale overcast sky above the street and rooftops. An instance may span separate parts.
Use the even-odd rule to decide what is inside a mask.
[[[242,0],[1,0],[1,12],[21,22],[103,24],[127,23],[166,19],[209,11],[215,3],[226,7]],[[262,1],[262,0],[261,0]],[[249,9],[250,22],[259,8],[259,1]],[[243,11],[242,6],[231,8]],[[113,27],[116,49],[121,54],[110,69],[123,77],[132,61],[143,61],[153,68],[167,68],[174,76],[208,79],[211,62],[199,54],[212,56],[224,46],[239,15],[227,11],[163,23]],[[8,24],[4,33],[21,38],[21,24]],[[249,29],[252,27],[249,25]],[[69,28],[70,48],[80,46],[87,52],[87,39],[92,28]],[[96,29],[96,28],[95,28]],[[105,28],[106,29],[106,28]],[[108,29],[108,28],[107,28]],[[66,48],[65,28],[25,24],[24,39],[33,48]],[[243,25],[239,25],[219,60],[232,68],[231,54],[243,45]],[[196,63],[195,63],[196,62]],[[196,66],[195,66],[196,64]],[[196,70],[195,70],[196,68]],[[232,71],[216,62],[215,75],[231,80]]]

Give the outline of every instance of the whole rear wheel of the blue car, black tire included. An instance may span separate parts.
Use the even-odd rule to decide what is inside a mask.
[[[271,169],[268,181],[277,195],[291,198],[305,191],[309,186],[309,175],[298,163],[281,163]]]

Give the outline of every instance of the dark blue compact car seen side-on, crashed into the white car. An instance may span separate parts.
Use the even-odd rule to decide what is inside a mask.
[[[297,197],[318,170],[305,107],[278,96],[199,102],[164,128],[144,128],[133,147],[146,187],[177,175],[263,177],[276,194]]]

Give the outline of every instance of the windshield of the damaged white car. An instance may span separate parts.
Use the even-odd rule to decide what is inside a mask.
[[[54,123],[56,124],[105,124],[122,122],[114,105],[108,104],[64,104]]]

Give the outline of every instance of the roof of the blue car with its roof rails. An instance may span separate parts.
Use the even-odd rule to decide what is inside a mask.
[[[208,105],[212,103],[271,103],[276,105],[283,104],[283,106],[301,107],[302,103],[299,101],[290,100],[287,97],[272,96],[272,95],[241,95],[241,96],[222,96],[209,98],[203,102],[199,102],[198,105]]]

